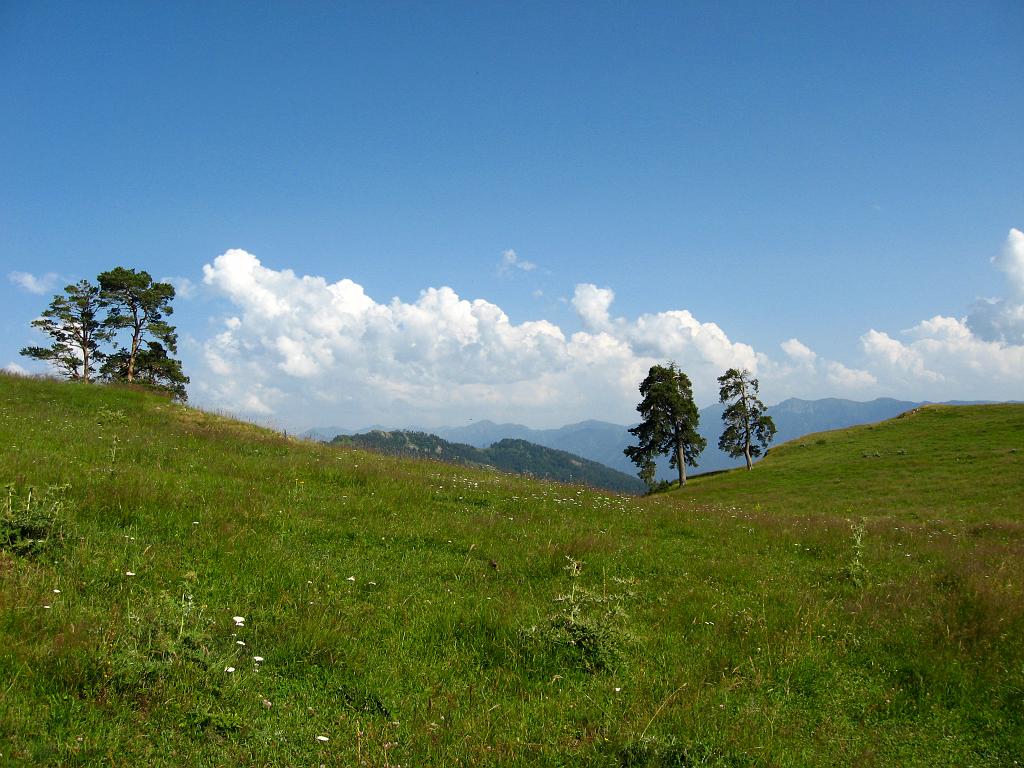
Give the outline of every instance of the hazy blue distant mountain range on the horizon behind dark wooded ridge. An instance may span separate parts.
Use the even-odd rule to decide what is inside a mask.
[[[792,397],[777,406],[770,406],[768,414],[774,420],[778,430],[774,440],[774,444],[778,444],[810,432],[823,432],[829,429],[841,429],[857,424],[869,424],[892,419],[924,403],[896,400],[891,397],[880,397],[867,402],[837,397],[826,397],[820,400],[802,400]],[[708,440],[708,447],[700,455],[697,469],[695,472],[690,470],[691,472],[714,472],[742,465],[741,458],[732,459],[718,450],[718,438],[722,433],[723,410],[722,404],[714,404],[700,411],[699,431]],[[379,429],[379,427],[372,427],[358,430],[357,433],[375,428]],[[545,447],[565,451],[636,476],[636,467],[623,454],[623,450],[627,445],[635,443],[635,439],[628,429],[621,424],[593,420],[569,424],[558,429],[531,429],[522,424],[495,424],[490,421],[479,421],[463,427],[437,427],[420,431],[435,434],[452,442],[466,443],[480,449],[503,439],[526,440]],[[338,434],[349,433],[344,429],[321,427],[308,430],[303,436],[328,441]],[[657,476],[659,479],[675,477],[675,472],[669,469],[667,459],[658,463]]]

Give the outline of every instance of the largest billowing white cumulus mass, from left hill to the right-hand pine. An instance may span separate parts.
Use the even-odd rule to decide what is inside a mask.
[[[719,369],[757,365],[751,347],[686,311],[612,318],[613,293],[589,284],[573,299],[585,330],[567,336],[544,319],[514,324],[451,288],[381,303],[350,280],[271,269],[239,249],[203,272],[232,311],[203,345],[198,394],[239,412],[288,418],[330,408],[357,423],[628,421],[654,362],[691,371],[706,398],[702,382],[714,384]]]

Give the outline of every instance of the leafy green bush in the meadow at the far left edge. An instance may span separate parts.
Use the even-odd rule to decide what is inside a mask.
[[[67,485],[51,485],[39,492],[30,486],[23,496],[8,483],[0,513],[0,549],[34,557],[61,544],[67,489]]]

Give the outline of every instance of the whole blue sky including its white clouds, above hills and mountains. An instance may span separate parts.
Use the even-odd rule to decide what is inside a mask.
[[[669,358],[701,404],[733,362],[1021,397],[1022,40],[1019,2],[0,4],[0,367],[123,264],[184,288],[195,402],[290,428],[625,422]]]

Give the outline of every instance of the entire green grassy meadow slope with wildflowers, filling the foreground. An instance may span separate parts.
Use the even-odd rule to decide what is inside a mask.
[[[636,500],[0,377],[0,480],[69,485],[62,549],[0,552],[0,762],[1013,764],[1022,427]]]

